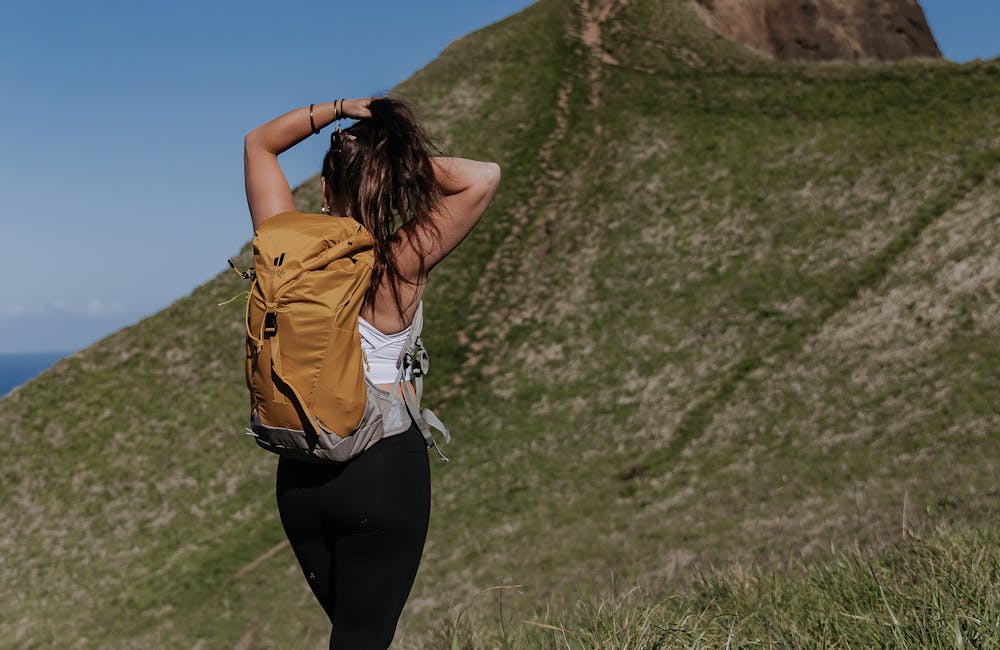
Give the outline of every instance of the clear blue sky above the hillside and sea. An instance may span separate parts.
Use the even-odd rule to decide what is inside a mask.
[[[250,236],[243,134],[385,92],[531,0],[3,0],[0,353],[162,309]],[[945,56],[1000,54],[1000,1],[923,0]],[[295,184],[322,138],[282,156]]]

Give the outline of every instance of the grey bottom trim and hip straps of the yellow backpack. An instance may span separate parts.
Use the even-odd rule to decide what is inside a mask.
[[[423,434],[427,446],[434,447],[441,460],[447,462],[448,458],[441,453],[441,448],[438,447],[430,429],[433,427],[440,431],[446,442],[451,442],[451,433],[433,411],[420,408],[420,398],[423,396],[424,388],[423,378],[428,368],[427,351],[420,340],[424,326],[423,307],[421,301],[413,317],[410,335],[396,360],[396,380],[393,382],[392,390],[386,392],[365,377],[367,395],[365,413],[354,433],[341,438],[332,431],[324,430],[322,425],[318,427],[316,433],[272,427],[262,423],[256,411],[251,414],[250,427],[245,433],[253,436],[258,445],[279,456],[316,463],[344,462],[354,458],[382,438],[403,433],[410,428],[410,418],[412,418]],[[413,371],[413,388],[416,394],[411,394],[406,387],[403,387],[399,391],[403,394],[401,398],[397,390],[407,368]]]

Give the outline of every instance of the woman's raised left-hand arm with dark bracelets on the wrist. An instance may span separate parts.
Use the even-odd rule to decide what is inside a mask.
[[[243,177],[254,230],[274,215],[295,209],[292,190],[278,165],[278,154],[338,118],[368,117],[370,101],[345,99],[296,108],[247,133],[243,139]]]

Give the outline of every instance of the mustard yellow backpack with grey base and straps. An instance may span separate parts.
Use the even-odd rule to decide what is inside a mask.
[[[396,362],[393,390],[365,377],[358,317],[374,263],[368,231],[350,217],[283,212],[257,228],[253,254],[254,268],[237,272],[252,280],[246,432],[257,444],[300,460],[343,462],[402,433],[412,417],[427,445],[448,460],[429,427],[450,442],[448,429],[419,405],[428,366],[422,304]],[[396,390],[407,369],[415,395]]]

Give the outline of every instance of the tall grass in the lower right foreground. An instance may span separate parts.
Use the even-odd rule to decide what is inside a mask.
[[[518,621],[502,619],[499,596],[476,598],[441,636],[454,650],[997,647],[998,542],[995,530],[938,531],[779,571],[714,571],[672,595],[633,586]]]

